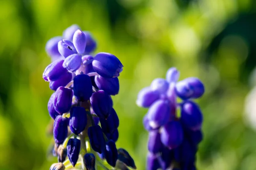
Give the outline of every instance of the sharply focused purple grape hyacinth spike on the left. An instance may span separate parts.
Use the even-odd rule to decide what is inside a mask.
[[[119,118],[111,95],[119,92],[118,76],[123,65],[113,54],[93,57],[95,48],[90,33],[77,25],[67,28],[63,37],[47,42],[52,63],[45,68],[43,78],[54,91],[48,111],[54,119],[52,153],[59,162],[50,170],[108,169],[104,162],[121,170],[136,169],[129,153],[115,144]]]

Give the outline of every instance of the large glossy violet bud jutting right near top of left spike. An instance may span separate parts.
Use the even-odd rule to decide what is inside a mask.
[[[118,77],[122,67],[122,63],[113,54],[98,53],[93,59],[93,69],[105,78]]]

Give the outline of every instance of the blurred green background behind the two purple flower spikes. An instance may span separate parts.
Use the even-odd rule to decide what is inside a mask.
[[[137,93],[172,66],[180,79],[205,83],[198,169],[256,170],[256,99],[246,100],[256,85],[255,0],[0,0],[0,170],[47,170],[57,161],[47,157],[52,91],[42,79],[50,63],[44,48],[72,24],[91,31],[96,52],[124,65],[113,97],[117,147],[138,170],[145,170],[148,133]]]

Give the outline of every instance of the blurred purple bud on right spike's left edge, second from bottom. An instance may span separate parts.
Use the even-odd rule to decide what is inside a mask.
[[[151,130],[148,136],[148,151],[151,153],[159,153],[163,147],[158,130]]]

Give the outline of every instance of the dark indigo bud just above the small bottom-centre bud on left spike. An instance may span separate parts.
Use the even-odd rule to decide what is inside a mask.
[[[105,139],[99,125],[88,128],[88,137],[94,151],[102,153],[105,150]]]

